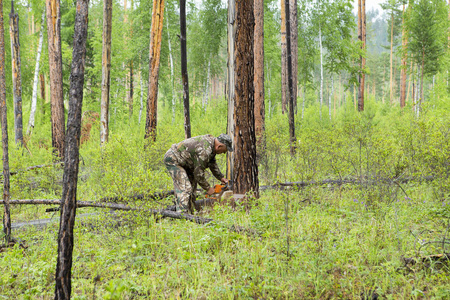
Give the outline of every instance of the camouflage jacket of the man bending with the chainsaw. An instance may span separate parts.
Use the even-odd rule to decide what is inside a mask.
[[[216,162],[214,139],[215,137],[209,134],[200,135],[173,144],[170,148],[177,164],[186,171],[192,172],[195,181],[205,190],[210,187],[205,178],[205,169],[209,168],[218,180],[224,177]]]

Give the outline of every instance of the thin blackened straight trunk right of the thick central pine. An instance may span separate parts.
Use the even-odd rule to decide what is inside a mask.
[[[285,0],[286,11],[286,48],[287,48],[287,75],[289,88],[289,143],[291,148],[291,155],[295,155],[297,148],[297,138],[295,136],[295,122],[294,122],[294,83],[292,82],[292,45],[291,45],[291,20],[289,14],[289,0]]]

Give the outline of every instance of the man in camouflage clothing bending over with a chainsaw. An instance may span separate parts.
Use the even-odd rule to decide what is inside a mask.
[[[166,152],[164,164],[173,179],[177,211],[194,211],[197,183],[208,195],[214,193],[214,188],[205,178],[206,168],[222,183],[228,182],[216,163],[216,154],[226,153],[227,150],[233,151],[229,135],[221,134],[215,138],[208,134],[173,144]]]

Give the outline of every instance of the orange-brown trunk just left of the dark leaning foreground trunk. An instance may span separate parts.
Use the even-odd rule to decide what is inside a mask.
[[[48,64],[50,67],[50,104],[52,146],[64,159],[65,116],[62,82],[61,12],[60,0],[46,0]]]

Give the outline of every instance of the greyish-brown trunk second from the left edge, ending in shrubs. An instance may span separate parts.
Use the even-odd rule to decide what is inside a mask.
[[[14,12],[14,2],[11,1],[9,14],[9,34],[11,38],[11,64],[14,94],[14,131],[16,144],[23,145],[22,122],[22,74],[19,43],[19,15]]]

